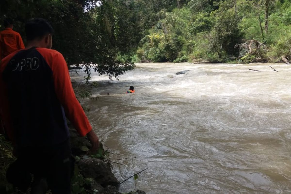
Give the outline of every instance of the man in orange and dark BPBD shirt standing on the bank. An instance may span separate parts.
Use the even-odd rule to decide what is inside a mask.
[[[54,194],[71,193],[66,117],[80,136],[87,135],[92,150],[98,149],[99,139],[75,97],[63,55],[51,49],[52,26],[45,19],[33,19],[25,31],[26,48],[8,55],[0,65],[1,116],[17,149],[15,169],[22,165],[34,180],[45,179]],[[24,184],[17,176],[7,178]]]

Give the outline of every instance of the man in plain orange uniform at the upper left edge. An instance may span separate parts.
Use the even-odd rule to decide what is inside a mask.
[[[0,32],[0,60],[10,53],[19,49],[24,49],[22,38],[18,32],[13,31],[13,20],[4,20],[5,30]]]

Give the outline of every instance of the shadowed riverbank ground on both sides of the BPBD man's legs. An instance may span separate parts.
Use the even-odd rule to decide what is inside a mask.
[[[70,126],[70,124],[69,124]],[[91,143],[87,137],[80,137],[70,126],[70,144],[74,156],[74,175],[72,177],[72,194],[121,194],[118,192],[120,182],[111,171],[109,151],[104,150],[102,143],[97,152],[90,152]],[[16,158],[9,141],[0,136],[0,193],[26,194],[13,189],[6,180],[6,170]],[[136,176],[134,176],[136,177]],[[131,191],[131,194],[145,194],[141,190]],[[50,192],[47,192],[50,194]]]

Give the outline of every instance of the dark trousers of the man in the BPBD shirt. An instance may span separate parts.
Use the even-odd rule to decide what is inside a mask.
[[[26,190],[31,183],[31,173],[32,191],[34,186],[37,188],[38,184],[44,184],[45,181],[53,194],[70,194],[73,168],[70,143],[66,140],[51,147],[20,148],[19,156],[9,166],[6,177],[8,182],[20,190]]]

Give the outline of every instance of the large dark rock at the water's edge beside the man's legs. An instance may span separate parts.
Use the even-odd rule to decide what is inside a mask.
[[[85,178],[93,178],[102,187],[108,185],[116,186],[119,184],[119,181],[111,172],[110,165],[100,159],[81,159],[78,163],[78,167]]]

